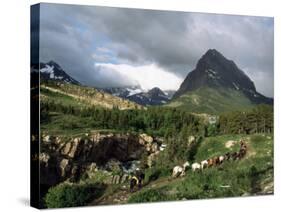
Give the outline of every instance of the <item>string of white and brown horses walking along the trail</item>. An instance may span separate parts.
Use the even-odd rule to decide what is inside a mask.
[[[203,160],[200,163],[198,163],[198,162],[192,163],[191,169],[192,169],[192,171],[195,172],[197,170],[203,170],[205,168],[221,165],[224,161],[240,160],[243,157],[245,157],[245,155],[247,153],[247,149],[248,149],[248,147],[247,147],[245,141],[241,139],[239,151],[237,151],[237,152],[227,152],[224,155],[215,156],[213,158]],[[190,163],[188,161],[185,162],[182,166],[175,166],[173,168],[172,177],[176,178],[176,177],[179,177],[179,176],[181,176],[181,177],[185,176],[185,173],[186,173],[186,171],[189,167],[190,167]]]

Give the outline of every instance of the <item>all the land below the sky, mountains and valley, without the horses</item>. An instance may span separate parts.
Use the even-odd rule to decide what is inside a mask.
[[[216,50],[172,94],[85,86],[55,62],[41,72],[43,208],[274,193],[273,99]],[[236,153],[241,139],[243,157],[172,177],[175,166]]]

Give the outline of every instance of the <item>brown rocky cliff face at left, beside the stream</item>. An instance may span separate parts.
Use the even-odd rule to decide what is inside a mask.
[[[66,179],[77,181],[83,173],[99,169],[109,174],[116,167],[121,169],[122,164],[140,160],[144,153],[148,155],[147,165],[151,165],[161,145],[160,141],[147,134],[93,133],[70,140],[45,135],[41,141],[41,184],[47,186]],[[113,178],[111,181],[114,182],[109,183],[124,181],[126,175]]]

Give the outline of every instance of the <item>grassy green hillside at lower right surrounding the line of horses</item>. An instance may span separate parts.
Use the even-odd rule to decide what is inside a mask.
[[[243,138],[248,153],[239,161],[228,161],[199,172],[188,170],[184,178],[159,178],[142,191],[128,197],[128,202],[155,202],[186,199],[221,198],[272,194],[273,137],[260,135],[223,135],[206,138],[197,149],[195,161],[202,161],[239,149]]]

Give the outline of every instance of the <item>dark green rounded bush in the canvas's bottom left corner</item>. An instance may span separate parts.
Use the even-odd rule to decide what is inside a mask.
[[[45,197],[48,208],[83,206],[102,193],[102,184],[59,184],[48,190]]]

